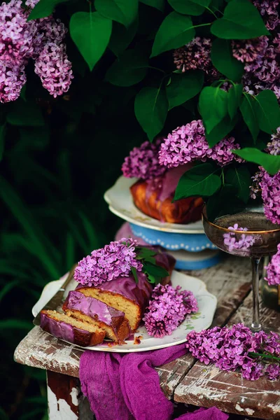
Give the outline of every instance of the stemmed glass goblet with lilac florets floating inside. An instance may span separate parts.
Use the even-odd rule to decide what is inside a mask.
[[[212,223],[207,207],[202,211],[204,232],[222,251],[251,258],[253,282],[253,319],[251,330],[260,331],[259,264],[262,257],[276,253],[280,243],[280,226],[267,220],[258,211],[244,211],[221,216]]]

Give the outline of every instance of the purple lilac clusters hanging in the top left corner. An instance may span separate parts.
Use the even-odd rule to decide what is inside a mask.
[[[38,0],[11,0],[0,6],[0,102],[15,101],[26,83],[25,66],[30,58],[35,60],[36,73],[43,86],[56,97],[67,92],[73,78],[71,63],[62,43],[66,28],[52,18],[27,22],[31,8]],[[53,52],[52,44],[55,43]],[[50,50],[52,53],[49,54]],[[48,55],[48,65],[45,64]],[[58,72],[61,75],[57,75]]]

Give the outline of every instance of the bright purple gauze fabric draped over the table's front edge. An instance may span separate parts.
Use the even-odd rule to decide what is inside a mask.
[[[161,391],[154,367],[185,353],[185,344],[125,354],[85,351],[80,358],[80,384],[97,420],[171,420],[173,404]],[[227,420],[228,416],[211,408],[179,419]]]

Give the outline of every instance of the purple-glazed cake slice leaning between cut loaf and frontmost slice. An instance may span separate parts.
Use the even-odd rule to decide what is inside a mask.
[[[124,312],[77,290],[69,292],[63,310],[68,316],[101,328],[114,342],[122,343],[130,336],[130,325]]]

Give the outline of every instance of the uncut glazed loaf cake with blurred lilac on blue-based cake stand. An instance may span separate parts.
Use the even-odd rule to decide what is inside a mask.
[[[163,223],[191,223],[201,218],[202,197],[188,197],[172,202],[179,179],[193,164],[176,168],[162,167],[158,160],[161,141],[145,142],[134,148],[123,163],[123,174],[138,181],[130,187],[135,206],[147,216]]]

